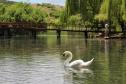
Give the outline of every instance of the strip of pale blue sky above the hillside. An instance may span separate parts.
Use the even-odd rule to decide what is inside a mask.
[[[52,3],[56,5],[64,6],[65,0],[9,0],[9,1],[16,1],[16,2],[30,2],[30,3]]]

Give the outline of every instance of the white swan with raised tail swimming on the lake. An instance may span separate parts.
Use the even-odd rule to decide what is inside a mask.
[[[65,66],[71,67],[71,68],[84,68],[84,67],[88,67],[89,65],[91,65],[91,63],[93,62],[94,58],[91,59],[90,61],[84,62],[83,60],[75,60],[73,62],[70,62],[72,60],[72,53],[70,51],[65,51],[63,53],[63,56],[68,57],[66,59],[66,61],[64,62]]]

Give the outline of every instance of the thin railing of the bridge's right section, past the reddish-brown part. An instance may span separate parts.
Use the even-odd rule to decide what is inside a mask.
[[[64,26],[48,24],[47,30],[74,31],[74,32],[105,32],[105,28],[85,27],[85,26]],[[110,33],[123,33],[122,30],[116,31],[113,28],[109,29]]]

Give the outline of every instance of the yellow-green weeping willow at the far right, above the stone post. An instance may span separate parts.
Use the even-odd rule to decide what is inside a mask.
[[[119,30],[122,26],[122,21],[126,21],[126,0],[104,0],[95,19],[107,21]]]

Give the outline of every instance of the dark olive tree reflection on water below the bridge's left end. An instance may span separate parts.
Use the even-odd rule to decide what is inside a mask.
[[[10,54],[19,57],[24,55],[31,56],[32,53],[44,50],[44,46],[46,45],[45,41],[28,38],[1,39],[0,50],[2,52],[0,52],[0,55],[4,56],[4,54]]]

